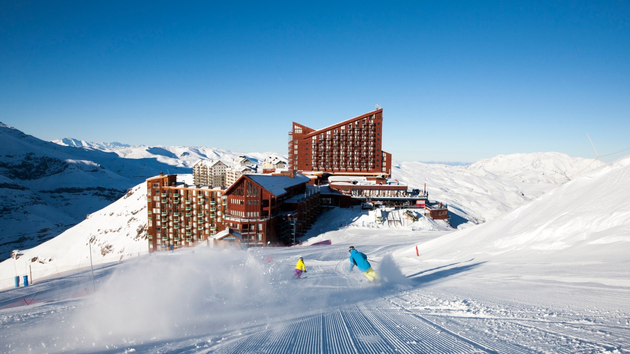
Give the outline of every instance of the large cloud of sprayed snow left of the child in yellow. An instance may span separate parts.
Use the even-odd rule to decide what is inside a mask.
[[[243,251],[154,254],[97,285],[75,323],[96,347],[211,334],[249,321],[273,299],[268,275]],[[254,316],[265,316],[264,311]]]

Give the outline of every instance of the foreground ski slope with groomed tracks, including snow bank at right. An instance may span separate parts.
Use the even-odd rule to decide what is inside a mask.
[[[302,246],[97,263],[0,292],[0,351],[628,353],[628,185],[630,156],[459,231],[330,210]]]

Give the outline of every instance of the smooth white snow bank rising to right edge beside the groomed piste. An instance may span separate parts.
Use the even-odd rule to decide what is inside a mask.
[[[423,245],[427,258],[457,261],[630,261],[630,156],[580,174],[486,224]],[[456,245],[456,246],[454,246]]]

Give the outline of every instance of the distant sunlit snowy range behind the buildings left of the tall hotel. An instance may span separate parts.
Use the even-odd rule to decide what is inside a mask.
[[[120,157],[127,159],[150,159],[177,166],[180,168],[192,168],[197,161],[201,159],[221,160],[228,166],[232,164],[234,159],[240,156],[246,156],[254,164],[261,165],[265,159],[278,158],[287,161],[287,157],[277,152],[236,152],[215,147],[200,146],[130,146],[121,144],[120,142],[86,142],[84,140],[64,138],[53,140],[55,144],[64,146],[83,147],[88,149],[96,149],[105,152],[114,152]]]

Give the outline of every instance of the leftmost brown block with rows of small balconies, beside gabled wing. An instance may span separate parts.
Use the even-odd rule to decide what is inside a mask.
[[[225,228],[224,189],[189,186],[176,174],[160,173],[146,183],[149,251],[205,243]]]

